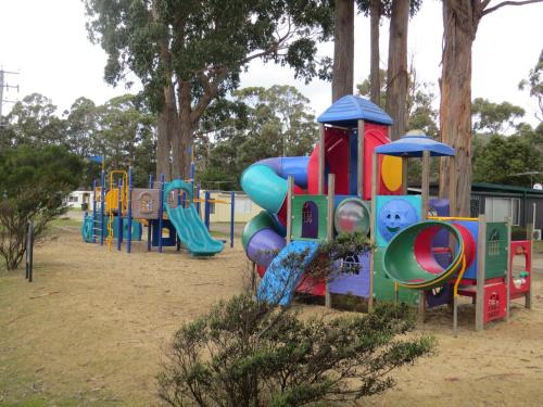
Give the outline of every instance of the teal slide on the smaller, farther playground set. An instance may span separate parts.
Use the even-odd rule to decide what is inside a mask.
[[[169,207],[167,196],[175,189],[184,190],[187,193],[190,202],[188,207],[182,207],[181,205]],[[223,242],[211,237],[207,228],[198,215],[197,208],[192,203],[192,188],[190,185],[180,179],[166,183],[164,188],[164,208],[180,241],[193,256],[213,256],[223,251]]]

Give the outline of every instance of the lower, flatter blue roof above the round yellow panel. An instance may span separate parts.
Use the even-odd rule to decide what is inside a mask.
[[[400,140],[375,149],[378,154],[395,155],[401,157],[421,157],[424,151],[429,151],[430,156],[453,156],[455,150],[447,144],[432,140],[428,136],[404,136]]]

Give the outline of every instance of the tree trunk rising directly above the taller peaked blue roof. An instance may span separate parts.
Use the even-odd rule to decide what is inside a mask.
[[[334,11],[332,102],[353,94],[354,1],[337,0]]]

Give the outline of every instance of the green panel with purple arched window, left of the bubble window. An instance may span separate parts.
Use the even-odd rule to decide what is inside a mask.
[[[291,239],[319,242],[325,241],[327,234],[327,195],[292,196]]]

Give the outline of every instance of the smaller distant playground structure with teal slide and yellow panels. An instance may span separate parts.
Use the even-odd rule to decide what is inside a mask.
[[[109,182],[106,182],[109,180]],[[220,253],[224,242],[210,234],[210,206],[226,203],[231,206],[230,246],[233,246],[235,193],[231,201],[212,200],[206,191],[204,200],[193,198],[193,180],[180,179],[160,182],[149,178],[149,188],[132,187],[132,170],[102,170],[101,181],[93,183],[92,213],[85,216],[81,234],[91,243],[108,244],[112,250],[116,240],[117,251],[126,241],[130,253],[132,240],[141,241],[142,227],[147,226],[148,251],[157,247],[184,246],[193,256],[213,256]],[[197,189],[200,194],[199,189]],[[204,203],[204,219],[200,217],[200,205]]]

